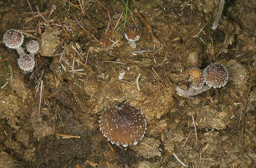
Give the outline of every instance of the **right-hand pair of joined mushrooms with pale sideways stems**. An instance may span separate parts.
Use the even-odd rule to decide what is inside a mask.
[[[188,90],[181,89],[179,86],[175,90],[185,97],[192,97],[213,88],[225,86],[228,82],[228,70],[221,63],[212,63],[204,70],[190,68],[186,71],[190,75],[190,85]],[[206,85],[204,85],[206,83]]]

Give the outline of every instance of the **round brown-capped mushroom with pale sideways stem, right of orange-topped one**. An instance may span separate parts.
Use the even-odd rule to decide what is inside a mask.
[[[192,97],[204,91],[207,91],[212,87],[219,88],[225,86],[228,82],[228,70],[221,63],[212,63],[203,70],[202,77],[203,84],[206,83],[206,85],[202,86],[198,90],[194,89],[193,84],[189,87],[187,91],[181,89],[179,86],[177,86],[175,90],[182,96]]]

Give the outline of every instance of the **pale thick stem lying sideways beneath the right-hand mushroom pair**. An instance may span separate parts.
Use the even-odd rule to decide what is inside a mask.
[[[207,91],[207,90],[209,90],[209,89],[211,89],[211,88],[212,88],[212,86],[205,85],[205,86],[203,86],[203,87],[202,87],[201,89],[199,89],[199,90],[194,90],[194,89],[192,88],[192,85],[190,85],[190,87],[189,87],[189,89],[188,89],[187,91],[184,90],[184,89],[181,89],[179,86],[176,86],[175,90],[176,90],[179,94],[181,94],[182,96],[188,98],[188,97],[192,97],[192,96],[198,95],[198,94],[200,94],[200,93],[202,93],[202,92],[205,92],[205,91]]]

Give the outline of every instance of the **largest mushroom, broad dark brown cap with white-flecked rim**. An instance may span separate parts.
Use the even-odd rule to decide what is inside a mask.
[[[142,112],[132,105],[113,106],[100,117],[100,131],[112,144],[136,145],[142,140],[147,123]]]

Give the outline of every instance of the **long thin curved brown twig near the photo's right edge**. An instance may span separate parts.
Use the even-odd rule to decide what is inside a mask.
[[[247,107],[247,102],[248,102],[248,98],[249,98],[249,93],[251,91],[251,87],[254,85],[253,83],[255,83],[255,77],[256,77],[256,73],[254,72],[253,77],[251,77],[251,79],[249,81],[250,85],[249,85],[249,89],[247,91],[246,98],[245,98],[244,105],[243,105],[242,130],[241,130],[241,154],[242,154],[242,156],[244,156],[243,155],[243,145],[244,145],[245,114],[247,112],[246,107]]]

